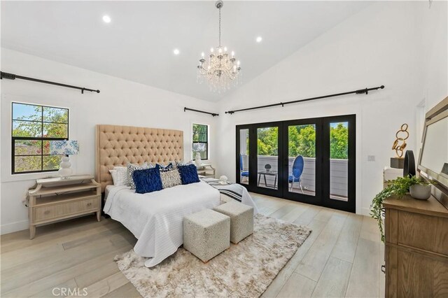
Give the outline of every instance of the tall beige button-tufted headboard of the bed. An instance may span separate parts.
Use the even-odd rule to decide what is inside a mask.
[[[101,183],[102,192],[106,185],[113,184],[109,173],[113,166],[183,160],[181,130],[97,125],[96,131],[95,179]]]

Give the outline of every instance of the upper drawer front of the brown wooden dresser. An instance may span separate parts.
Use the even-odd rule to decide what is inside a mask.
[[[398,244],[448,256],[448,218],[398,211]]]

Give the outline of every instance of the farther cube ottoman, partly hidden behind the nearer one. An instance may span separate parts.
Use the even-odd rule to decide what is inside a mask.
[[[230,216],[230,241],[238,243],[253,233],[253,207],[237,201],[217,206],[213,209]]]

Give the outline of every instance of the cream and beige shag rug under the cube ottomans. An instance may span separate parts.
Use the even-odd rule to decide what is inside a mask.
[[[259,297],[310,233],[258,214],[251,236],[206,264],[183,248],[152,268],[134,250],[115,261],[143,297]]]

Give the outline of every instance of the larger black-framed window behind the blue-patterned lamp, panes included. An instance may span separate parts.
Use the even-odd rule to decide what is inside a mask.
[[[69,139],[69,109],[13,102],[12,173],[56,171],[50,141]]]

